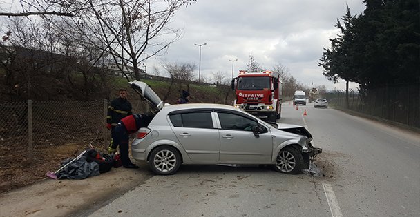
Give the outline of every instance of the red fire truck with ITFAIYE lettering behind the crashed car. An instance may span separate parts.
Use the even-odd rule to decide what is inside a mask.
[[[231,88],[236,92],[233,106],[268,121],[276,122],[280,118],[282,83],[279,73],[240,70],[239,76],[232,79]]]

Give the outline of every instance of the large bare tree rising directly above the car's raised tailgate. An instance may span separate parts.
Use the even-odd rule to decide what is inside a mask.
[[[140,80],[140,63],[151,56],[164,54],[169,45],[180,39],[181,30],[170,28],[175,12],[196,0],[79,0],[69,10],[79,10],[70,19],[77,30],[93,35],[106,45],[116,66],[131,80],[126,68],[133,68]]]

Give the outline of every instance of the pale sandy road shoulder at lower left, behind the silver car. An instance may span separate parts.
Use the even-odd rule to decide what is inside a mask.
[[[1,194],[0,216],[86,216],[149,179],[145,167],[113,168],[84,180],[41,180]]]

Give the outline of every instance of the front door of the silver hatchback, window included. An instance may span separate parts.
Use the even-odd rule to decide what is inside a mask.
[[[269,162],[273,152],[273,138],[267,128],[260,125],[264,132],[257,138],[252,127],[258,125],[256,118],[218,110],[220,123],[220,161],[223,162]]]

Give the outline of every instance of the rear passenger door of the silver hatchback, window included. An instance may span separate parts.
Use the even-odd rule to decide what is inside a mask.
[[[172,112],[173,132],[191,161],[215,162],[219,159],[220,137],[211,110]]]

